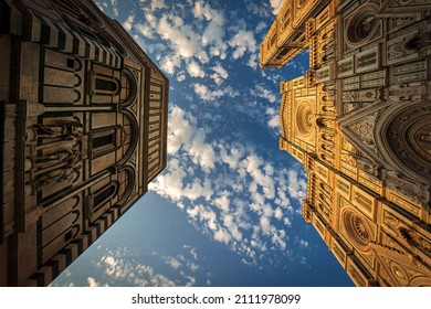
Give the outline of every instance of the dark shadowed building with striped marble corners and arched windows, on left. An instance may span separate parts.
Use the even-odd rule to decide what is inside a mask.
[[[169,82],[91,0],[1,0],[0,54],[0,286],[46,286],[166,167]]]

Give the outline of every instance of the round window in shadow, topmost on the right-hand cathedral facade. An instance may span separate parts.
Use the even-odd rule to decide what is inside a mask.
[[[364,44],[376,33],[377,25],[375,6],[369,4],[360,8],[348,22],[347,43],[354,46]]]

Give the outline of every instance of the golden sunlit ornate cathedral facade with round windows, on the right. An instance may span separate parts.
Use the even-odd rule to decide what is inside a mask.
[[[281,83],[280,149],[312,223],[357,286],[431,286],[431,1],[285,0],[261,67]]]

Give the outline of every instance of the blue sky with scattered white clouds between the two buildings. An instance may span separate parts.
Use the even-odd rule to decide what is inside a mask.
[[[308,67],[259,67],[282,2],[96,1],[170,81],[168,166],[52,286],[353,286],[278,150],[280,82]]]

